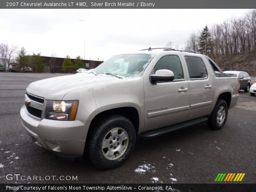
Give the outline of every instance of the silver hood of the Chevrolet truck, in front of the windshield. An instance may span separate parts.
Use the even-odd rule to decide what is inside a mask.
[[[40,96],[45,99],[61,100],[65,94],[74,90],[97,86],[99,84],[114,83],[124,79],[118,79],[109,75],[94,75],[79,73],[74,75],[64,75],[32,82],[26,91],[30,94]]]

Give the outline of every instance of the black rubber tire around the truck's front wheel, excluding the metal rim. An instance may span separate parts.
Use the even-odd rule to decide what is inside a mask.
[[[128,148],[120,158],[115,160],[109,160],[105,158],[102,153],[102,141],[104,139],[104,136],[106,136],[106,134],[112,128],[116,128],[116,127],[123,128],[128,133],[128,137],[129,137]],[[110,119],[103,120],[99,124],[97,129],[98,131],[95,132],[94,135],[92,134],[94,138],[93,139],[94,145],[90,146],[90,151],[89,151],[89,156],[90,156],[90,159],[92,160],[92,163],[101,169],[115,168],[123,164],[127,160],[128,156],[130,156],[130,154],[132,153],[136,143],[136,132],[132,122],[130,122],[130,120],[128,120],[123,116],[112,116],[110,117]]]

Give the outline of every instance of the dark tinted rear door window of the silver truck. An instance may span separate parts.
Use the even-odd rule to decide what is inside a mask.
[[[185,56],[185,60],[190,79],[207,78],[207,70],[200,57]]]

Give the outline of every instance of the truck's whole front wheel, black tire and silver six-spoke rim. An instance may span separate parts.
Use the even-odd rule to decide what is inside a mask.
[[[90,133],[89,158],[100,169],[116,168],[132,154],[135,143],[136,131],[132,122],[124,116],[112,115],[102,119]]]

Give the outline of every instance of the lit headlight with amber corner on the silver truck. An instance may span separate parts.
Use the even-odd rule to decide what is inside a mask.
[[[54,120],[74,120],[78,108],[78,100],[52,101],[48,100],[45,118]]]

